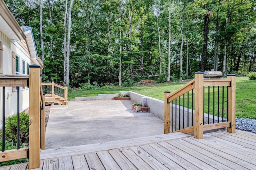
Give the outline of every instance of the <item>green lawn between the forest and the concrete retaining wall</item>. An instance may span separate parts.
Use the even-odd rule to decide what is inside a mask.
[[[82,96],[97,96],[98,94],[119,93],[119,91],[134,91],[142,95],[164,100],[164,91],[170,91],[172,93],[186,83],[175,82],[154,86],[112,87],[69,91],[68,99]],[[207,87],[206,90],[208,90]],[[206,91],[206,93],[208,92]],[[248,77],[236,77],[236,117],[256,119],[256,80],[249,80]]]

